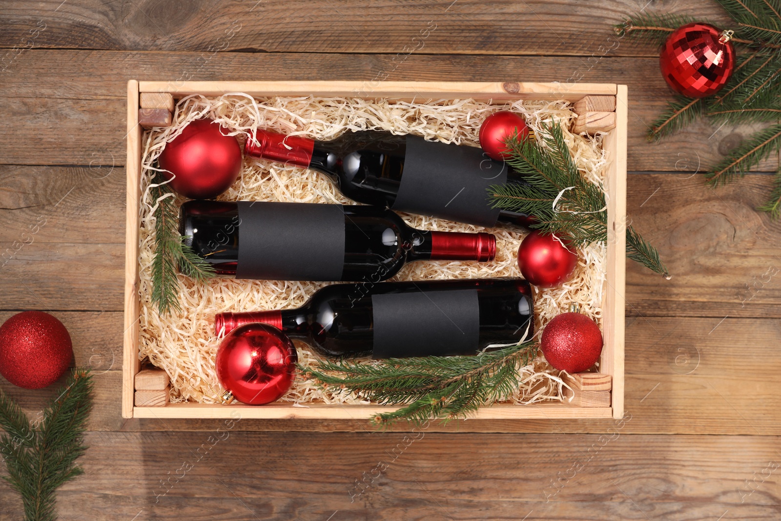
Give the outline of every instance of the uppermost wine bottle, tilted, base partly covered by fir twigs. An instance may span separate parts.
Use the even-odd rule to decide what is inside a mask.
[[[260,129],[255,137],[244,145],[245,154],[326,173],[353,201],[486,227],[531,223],[524,213],[490,207],[488,187],[524,181],[480,148],[377,130],[345,132],[331,141]]]

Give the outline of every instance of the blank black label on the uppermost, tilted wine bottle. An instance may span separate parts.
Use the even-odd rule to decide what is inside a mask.
[[[506,181],[505,163],[489,159],[480,148],[408,135],[393,209],[492,227],[499,209],[490,208],[486,189]]]

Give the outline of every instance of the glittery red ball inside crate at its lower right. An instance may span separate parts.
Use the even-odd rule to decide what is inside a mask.
[[[602,352],[602,333],[594,320],[580,313],[562,313],[547,323],[540,340],[545,359],[556,369],[580,373]]]

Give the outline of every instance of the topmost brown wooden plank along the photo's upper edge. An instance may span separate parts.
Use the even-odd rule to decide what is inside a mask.
[[[430,52],[501,55],[657,55],[612,32],[643,2],[4,2],[0,46],[201,52]],[[645,6],[647,7],[647,6]],[[653,9],[653,8],[650,8]],[[665,2],[721,25],[713,2]],[[555,30],[550,20],[556,20]],[[13,56],[13,54],[11,55]]]

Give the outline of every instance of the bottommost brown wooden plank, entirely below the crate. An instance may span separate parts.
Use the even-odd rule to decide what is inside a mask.
[[[722,519],[776,519],[779,512],[777,463],[765,470],[779,459],[776,436],[625,434],[634,419],[624,429],[612,422],[611,434],[565,439],[280,436],[237,432],[243,421],[204,433],[87,434],[85,473],[59,491],[59,515],[714,521],[726,511]],[[748,494],[746,480],[762,475]],[[6,515],[20,509],[8,484],[0,484],[0,501],[9,505]]]

